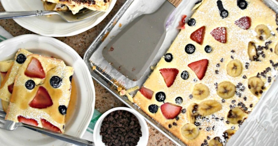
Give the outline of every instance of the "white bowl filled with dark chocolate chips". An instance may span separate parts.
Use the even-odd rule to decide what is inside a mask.
[[[118,107],[98,119],[93,136],[98,146],[145,146],[149,130],[144,117],[138,112]]]

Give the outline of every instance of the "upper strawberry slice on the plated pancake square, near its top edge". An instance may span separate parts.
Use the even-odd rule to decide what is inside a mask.
[[[45,78],[45,71],[43,70],[43,67],[41,66],[41,62],[36,58],[32,58],[27,69],[25,70],[24,74],[27,77],[35,77],[35,78],[40,78],[40,79]]]

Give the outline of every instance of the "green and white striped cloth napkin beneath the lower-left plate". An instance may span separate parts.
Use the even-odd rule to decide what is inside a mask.
[[[0,42],[5,41],[6,39],[9,39],[12,37],[13,36],[9,32],[7,32],[3,27],[0,26]],[[101,115],[102,114],[100,112],[98,112],[98,110],[94,109],[93,117],[92,117],[91,122],[90,122],[85,134],[83,135],[82,139],[86,139],[88,141],[93,141],[94,126]]]

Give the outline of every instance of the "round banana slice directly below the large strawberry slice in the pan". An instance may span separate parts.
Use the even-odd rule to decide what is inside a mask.
[[[209,88],[204,84],[196,84],[192,91],[193,98],[202,100],[209,96]]]

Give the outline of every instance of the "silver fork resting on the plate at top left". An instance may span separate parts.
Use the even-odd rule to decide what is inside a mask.
[[[86,20],[98,15],[101,11],[93,11],[90,9],[82,9],[75,15],[71,11],[16,11],[16,12],[0,12],[0,19],[14,19],[31,16],[59,15],[67,22],[78,22]]]

